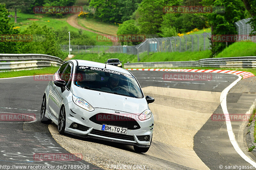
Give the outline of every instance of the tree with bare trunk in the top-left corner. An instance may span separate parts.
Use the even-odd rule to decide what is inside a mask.
[[[1,4],[6,4],[6,8],[15,12],[15,23],[17,23],[17,9],[25,9],[30,6],[33,0],[0,0]]]

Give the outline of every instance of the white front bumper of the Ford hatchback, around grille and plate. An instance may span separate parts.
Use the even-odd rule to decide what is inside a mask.
[[[94,111],[89,112],[79,106],[77,106],[73,101],[69,102],[66,106],[66,128],[65,131],[68,134],[80,136],[80,137],[92,137],[97,139],[102,139],[106,141],[122,143],[126,145],[136,145],[139,147],[149,147],[150,141],[153,135],[154,128],[154,117],[153,114],[151,118],[145,121],[138,121],[140,125],[140,129],[131,130],[128,129],[126,135],[105,132],[102,131],[102,125],[92,122],[90,117],[96,115],[98,113],[106,113],[106,114],[115,114],[115,110],[103,109],[103,108],[95,108]],[[125,116],[136,116],[134,114],[120,112],[120,115]],[[71,128],[72,123],[78,124],[78,126],[83,126],[83,130],[73,129]],[[122,127],[122,126],[120,126]],[[149,136],[148,141],[141,140],[141,136]]]

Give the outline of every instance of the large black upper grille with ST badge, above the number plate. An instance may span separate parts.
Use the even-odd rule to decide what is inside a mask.
[[[116,121],[108,121],[108,120],[104,120],[104,119],[99,120],[98,117],[100,117],[100,116],[98,116],[98,115],[100,115],[101,117],[102,117],[102,115],[104,115],[105,117],[110,115],[110,117],[111,117],[111,115],[113,115],[113,114],[98,113],[98,114],[90,117],[89,120],[96,124],[100,124],[100,125],[106,124],[106,125],[118,126],[121,128],[127,128],[130,130],[140,129],[139,123],[131,117],[125,117],[122,115],[114,115],[115,117],[118,116],[118,120],[116,119]],[[120,120],[126,120],[126,121],[120,121]]]

